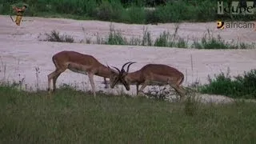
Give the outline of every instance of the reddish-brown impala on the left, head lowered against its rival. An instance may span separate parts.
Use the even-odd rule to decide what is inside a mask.
[[[106,83],[106,78],[110,78],[110,85],[113,82],[113,78],[118,72],[110,69],[109,66],[104,66],[102,63],[98,62],[96,58],[87,54],[80,54],[75,51],[61,51],[54,54],[52,57],[54,66],[56,70],[48,74],[48,90],[50,90],[50,81],[53,79],[53,91],[56,89],[56,81],[60,74],[62,74],[66,69],[74,71],[75,73],[87,74],[89,77],[90,85],[96,97],[95,86],[94,86],[94,75],[98,75],[104,78],[105,88],[108,87]]]

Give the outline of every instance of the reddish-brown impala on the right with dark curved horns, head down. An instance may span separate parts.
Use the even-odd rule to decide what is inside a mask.
[[[124,70],[124,66],[127,66],[127,70]],[[118,70],[119,74],[113,78],[114,82],[111,83],[110,87],[114,87],[118,81],[121,82],[126,90],[130,90],[130,84],[136,85],[137,95],[141,93],[146,86],[152,85],[170,85],[174,88],[180,95],[180,101],[183,101],[185,98],[185,91],[182,90],[180,86],[184,80],[184,74],[174,67],[162,65],[162,64],[147,64],[143,66],[140,70],[129,73],[130,65],[136,62],[126,62],[122,66],[122,70],[119,70],[117,67],[114,69]],[[138,90],[138,86],[142,85]]]

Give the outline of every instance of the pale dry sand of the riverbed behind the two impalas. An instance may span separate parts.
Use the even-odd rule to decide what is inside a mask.
[[[147,63],[163,63],[174,66],[186,74],[183,86],[187,86],[197,79],[200,83],[207,83],[207,76],[219,74],[221,70],[226,72],[230,67],[230,75],[243,74],[244,71],[256,67],[256,50],[191,50],[180,48],[161,48],[146,46],[106,46],[85,43],[40,42],[40,34],[58,30],[62,34],[74,36],[77,41],[91,38],[96,39],[98,34],[106,38],[110,30],[110,22],[77,21],[60,18],[30,18],[24,17],[26,22],[16,26],[9,16],[0,16],[0,78],[8,81],[21,81],[28,87],[46,90],[47,74],[54,70],[51,57],[61,50],[75,50],[83,54],[92,54],[103,64],[121,67],[128,61],[138,62],[130,67],[130,71],[138,70]],[[162,31],[174,31],[174,23],[156,25],[128,25],[113,23],[116,30],[121,30],[127,38],[142,37],[143,27],[151,32],[153,38]],[[85,29],[83,33],[82,27]],[[206,30],[212,30],[214,35],[220,34],[226,41],[255,42],[256,32],[250,29],[217,30],[215,22],[207,23],[182,23],[179,26],[178,35],[182,38],[202,38]],[[191,70],[191,56],[193,59],[193,71]],[[6,66],[6,72],[4,67]],[[40,73],[36,77],[35,67]],[[38,80],[38,82],[37,82]],[[115,93],[124,90],[123,86],[105,90],[102,78],[94,77],[97,90]],[[59,78],[57,85],[73,84],[79,89],[91,90],[88,77],[66,70]],[[134,94],[134,86],[125,93]],[[147,90],[147,88],[146,88]],[[207,102],[226,99],[223,96],[207,96]],[[202,95],[201,95],[202,96]]]

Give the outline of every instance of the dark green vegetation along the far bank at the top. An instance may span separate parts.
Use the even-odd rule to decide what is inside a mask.
[[[10,14],[11,6],[21,6],[22,2],[29,6],[26,10],[28,16],[126,23],[249,21],[256,18],[255,14],[218,15],[217,1],[212,0],[1,0],[0,13]],[[224,4],[227,6],[227,2]],[[145,7],[154,7],[154,10]]]

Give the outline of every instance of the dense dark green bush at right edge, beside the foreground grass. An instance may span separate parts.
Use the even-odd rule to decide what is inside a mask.
[[[202,86],[200,91],[206,94],[222,94],[231,98],[256,98],[256,69],[244,72],[234,78],[230,71],[208,78],[209,84]]]

